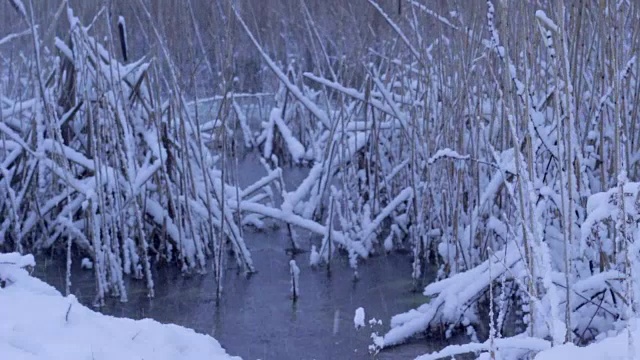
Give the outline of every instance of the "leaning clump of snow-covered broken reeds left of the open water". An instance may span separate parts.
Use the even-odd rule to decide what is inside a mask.
[[[72,248],[89,256],[97,304],[108,294],[127,300],[126,274],[144,278],[153,296],[152,263],[204,272],[213,258],[220,272],[224,246],[253,272],[242,219],[225,202],[253,203],[239,194],[270,183],[246,194],[227,184],[179,91],[160,93],[161,81],[177,89],[171,76],[145,59],[119,62],[71,9],[67,20],[59,55],[35,62],[23,99],[2,103],[0,246],[64,243],[68,266]]]

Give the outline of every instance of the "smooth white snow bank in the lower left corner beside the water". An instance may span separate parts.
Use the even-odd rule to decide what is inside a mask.
[[[97,313],[23,269],[34,265],[0,254],[0,359],[240,359],[191,329]]]

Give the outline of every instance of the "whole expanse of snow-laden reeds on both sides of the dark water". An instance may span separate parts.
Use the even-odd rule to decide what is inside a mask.
[[[322,237],[314,265],[329,266],[337,249],[357,275],[369,256],[410,249],[416,288],[427,264],[438,267],[425,304],[394,317],[374,351],[444,329],[487,340],[425,358],[515,359],[630,326],[640,296],[638,5],[350,3],[338,8],[366,9],[375,28],[359,32],[344,16],[361,36],[329,41],[330,26],[300,1],[279,19],[301,30],[283,47],[249,4],[221,2],[217,31],[251,44],[274,91],[257,133],[233,95],[246,90],[234,81],[235,45],[207,55],[195,17],[185,18],[189,51],[218,79],[219,111],[206,123],[185,101],[200,91],[184,80],[197,72],[185,75],[184,53],[163,40],[152,16],[161,10],[139,1],[135,12],[157,58],[122,64],[108,51],[117,40],[103,47],[66,10],[69,38],[47,51],[16,6],[28,28],[0,46],[29,39],[35,60],[11,57],[22,75],[2,77],[11,97],[0,118],[0,244],[82,249],[98,265],[98,299],[124,299],[123,273],[152,293],[150,256],[177,256],[185,270],[211,258],[222,276],[231,246],[252,271],[243,226],[271,218],[294,247],[297,227]],[[229,181],[232,129],[264,160],[267,175],[246,189]],[[284,164],[310,167],[291,191]]]

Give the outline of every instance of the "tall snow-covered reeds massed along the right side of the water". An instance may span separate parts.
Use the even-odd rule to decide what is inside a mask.
[[[283,72],[235,14],[283,102],[304,114],[267,128],[276,118],[316,122],[314,136],[279,145],[293,158],[293,148],[307,149],[314,164],[283,208],[335,223],[354,268],[364,257],[356,245],[366,256],[411,249],[416,285],[425,264],[439,266],[429,300],[394,317],[376,344],[442,326],[474,333],[490,301],[493,345],[468,351],[584,343],[629,321],[638,296],[637,4],[487,1],[484,11],[439,11],[410,1],[396,14],[368,3],[397,41],[368,48],[364,79],[320,61],[303,79]],[[313,37],[318,25],[307,21]],[[262,140],[274,154],[273,138]],[[327,234],[314,264],[327,262]],[[507,321],[514,314],[521,334]]]

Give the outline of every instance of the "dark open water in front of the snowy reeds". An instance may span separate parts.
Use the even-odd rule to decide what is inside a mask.
[[[288,245],[284,231],[245,234],[258,273],[247,279],[229,268],[224,295],[216,304],[213,273],[181,274],[173,267],[154,269],[156,297],[148,299],[144,283],[128,280],[129,302],[110,299],[97,309],[105,314],[134,319],[152,318],[214,336],[230,354],[243,359],[371,359],[368,345],[372,329],[353,326],[355,309],[362,306],[367,320],[381,319],[380,333],[391,316],[418,306],[412,293],[408,255],[382,255],[366,260],[359,281],[345,257],[336,257],[329,277],[325,268],[313,270],[308,254],[300,254],[300,298],[290,297]],[[231,262],[230,262],[231,263]],[[85,304],[94,298],[93,272],[76,262],[72,292]],[[36,276],[63,289],[64,264],[41,257]],[[441,348],[442,342],[415,340],[385,350],[379,359],[413,359]]]

